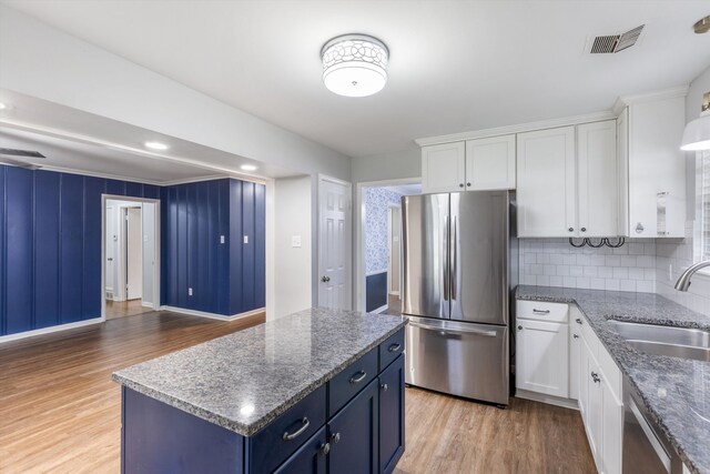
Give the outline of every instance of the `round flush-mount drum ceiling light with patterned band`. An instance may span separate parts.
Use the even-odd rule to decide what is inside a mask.
[[[333,38],[323,46],[321,59],[323,82],[338,95],[372,95],[387,83],[389,50],[377,38],[367,34]]]

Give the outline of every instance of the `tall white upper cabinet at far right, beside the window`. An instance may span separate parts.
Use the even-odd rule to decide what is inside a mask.
[[[631,101],[619,115],[621,235],[684,236],[684,123],[682,95]]]

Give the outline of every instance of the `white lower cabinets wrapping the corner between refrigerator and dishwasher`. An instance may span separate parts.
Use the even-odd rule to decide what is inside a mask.
[[[620,474],[621,372],[579,309],[570,305],[567,312],[561,306],[567,307],[517,302],[516,387],[532,392],[521,396],[534,400],[560,404],[559,399],[566,399],[566,406],[576,400],[597,470]]]

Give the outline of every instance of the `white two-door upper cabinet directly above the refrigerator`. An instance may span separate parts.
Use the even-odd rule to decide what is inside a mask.
[[[422,148],[422,191],[515,189],[515,135]]]

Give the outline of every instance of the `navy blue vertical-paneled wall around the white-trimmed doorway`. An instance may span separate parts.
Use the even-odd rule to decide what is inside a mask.
[[[104,193],[161,200],[162,304],[219,314],[264,306],[263,185],[159,188],[0,165],[0,335],[101,315]]]

